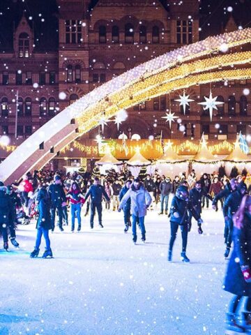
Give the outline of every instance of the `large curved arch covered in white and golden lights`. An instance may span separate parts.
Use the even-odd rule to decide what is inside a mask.
[[[109,119],[122,108],[196,84],[250,79],[251,52],[220,53],[222,43],[237,47],[250,42],[251,29],[206,38],[115,77],[66,107],[17,147],[1,163],[0,179],[8,183],[42,168],[79,133],[98,126],[104,115]]]

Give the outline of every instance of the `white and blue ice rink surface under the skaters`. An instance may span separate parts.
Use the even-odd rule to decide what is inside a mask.
[[[89,217],[80,233],[56,228],[53,259],[30,259],[35,225],[19,225],[20,249],[0,251],[0,334],[224,334],[222,213],[202,217],[204,234],[193,222],[188,237],[190,264],[180,260],[180,232],[167,262],[169,219],[158,211],[146,217],[147,243],[136,246],[122,213],[104,211],[104,229],[91,230]]]

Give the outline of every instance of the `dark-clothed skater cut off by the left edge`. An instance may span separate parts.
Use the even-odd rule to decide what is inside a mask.
[[[6,187],[0,181],[0,231],[3,236],[3,248],[8,251],[8,220],[10,217],[12,203],[10,197],[6,195]]]

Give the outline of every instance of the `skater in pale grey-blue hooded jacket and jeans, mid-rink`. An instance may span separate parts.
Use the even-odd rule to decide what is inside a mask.
[[[146,241],[146,229],[144,226],[144,217],[146,216],[146,209],[149,208],[151,204],[151,195],[146,188],[144,188],[144,184],[139,180],[139,178],[135,178],[132,185],[130,186],[130,190],[126,192],[126,194],[121,199],[121,203],[119,204],[119,211],[126,205],[126,202],[130,198],[130,212],[132,214],[132,241],[136,244],[137,241],[137,219],[139,219],[139,226],[142,232],[142,241]]]

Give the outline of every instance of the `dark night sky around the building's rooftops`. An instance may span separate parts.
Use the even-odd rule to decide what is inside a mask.
[[[146,0],[153,1],[153,0]],[[183,0],[185,2],[186,0]],[[91,8],[98,0],[93,0]],[[158,1],[155,1],[156,3]],[[161,0],[168,10],[166,3]],[[182,6],[182,5],[181,5]],[[91,10],[90,8],[90,10]],[[201,38],[220,34],[229,16],[233,15],[237,27],[251,27],[251,0],[201,0]],[[58,8],[56,0],[1,0],[0,1],[0,50],[13,48],[13,22],[20,21],[22,13],[33,24],[36,50],[56,50],[58,44]]]

